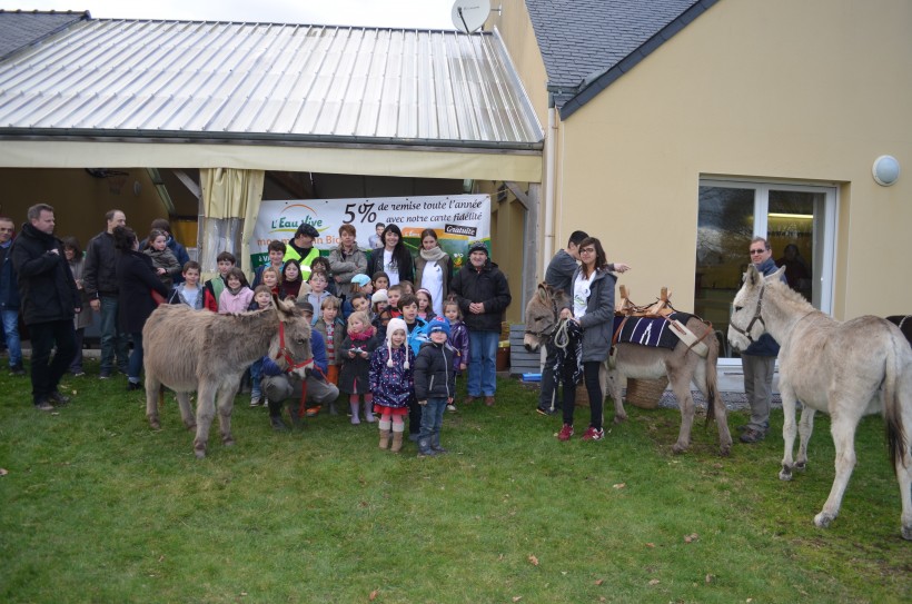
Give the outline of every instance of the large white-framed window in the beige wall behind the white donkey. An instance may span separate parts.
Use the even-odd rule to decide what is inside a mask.
[[[830,313],[835,204],[834,187],[701,180],[694,311],[727,331],[751,238],[760,236],[789,285]]]

